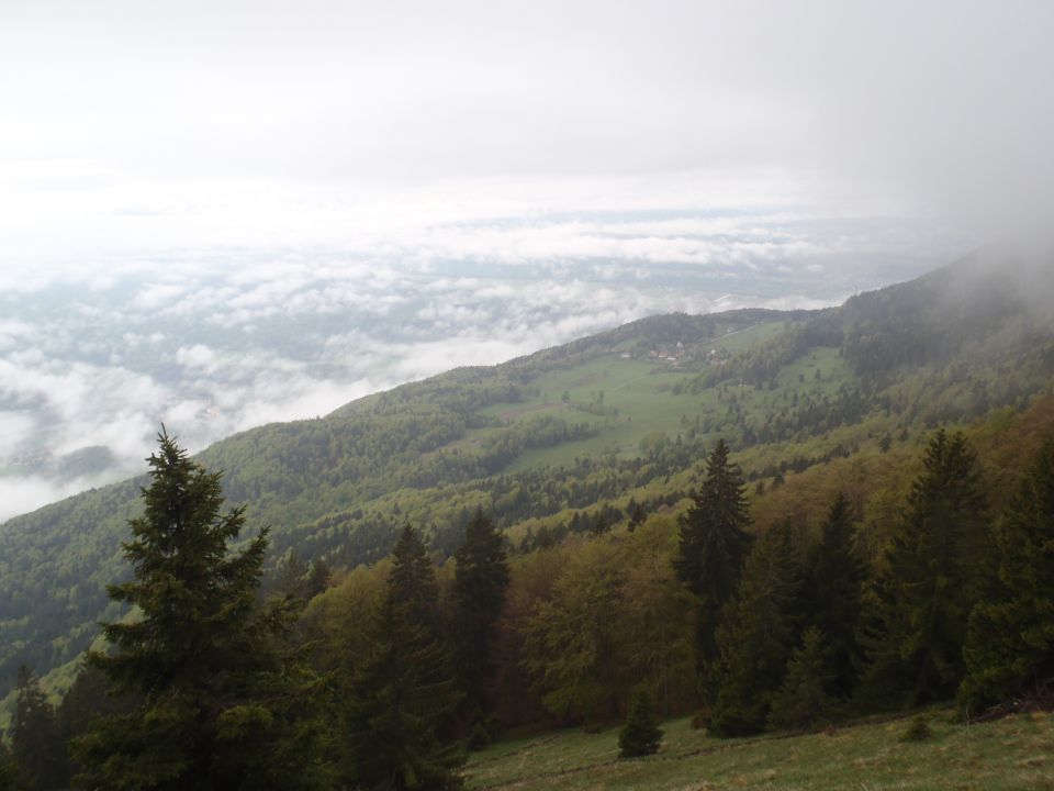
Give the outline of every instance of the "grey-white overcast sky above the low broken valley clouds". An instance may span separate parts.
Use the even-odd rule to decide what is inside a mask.
[[[0,261],[1052,205],[1054,3],[0,0]]]

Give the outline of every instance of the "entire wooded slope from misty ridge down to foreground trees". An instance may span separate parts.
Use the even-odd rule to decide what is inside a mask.
[[[524,728],[1050,705],[1054,302],[1011,265],[162,433],[0,527],[0,788],[457,788]]]

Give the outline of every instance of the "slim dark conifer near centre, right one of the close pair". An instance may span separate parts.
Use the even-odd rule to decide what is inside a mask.
[[[478,718],[486,706],[494,626],[505,604],[508,557],[505,537],[478,509],[455,554],[453,605],[457,668],[464,710]]]

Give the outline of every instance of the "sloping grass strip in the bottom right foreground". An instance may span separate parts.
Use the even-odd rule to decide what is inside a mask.
[[[617,729],[564,731],[474,754],[470,789],[1052,789],[1054,716],[1021,714],[964,727],[951,712],[933,737],[899,740],[910,720],[805,736],[714,739],[687,720],[663,724],[661,751],[618,760]]]

